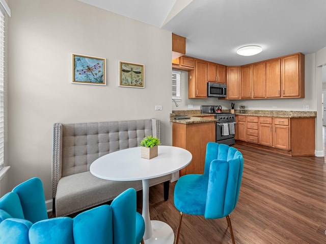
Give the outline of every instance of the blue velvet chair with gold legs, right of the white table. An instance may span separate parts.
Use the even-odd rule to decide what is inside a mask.
[[[180,211],[176,244],[182,213],[204,215],[206,219],[226,217],[232,243],[235,243],[229,214],[238,201],[242,171],[243,157],[237,149],[207,143],[204,174],[184,175],[175,185],[174,205]]]

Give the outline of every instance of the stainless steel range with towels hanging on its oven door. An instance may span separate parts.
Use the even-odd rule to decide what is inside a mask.
[[[235,114],[216,112],[220,111],[219,108],[220,106],[202,105],[201,111],[203,114],[214,114],[215,119],[219,120],[216,122],[215,141],[226,145],[234,145]]]

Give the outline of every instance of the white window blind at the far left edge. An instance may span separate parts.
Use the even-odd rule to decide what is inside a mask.
[[[0,170],[4,168],[5,106],[4,106],[4,59],[5,52],[5,16],[0,11]]]

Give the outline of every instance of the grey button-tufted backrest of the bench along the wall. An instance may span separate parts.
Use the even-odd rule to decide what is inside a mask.
[[[159,125],[156,119],[53,124],[53,197],[61,177],[89,171],[95,159],[137,147],[148,135],[159,138]]]

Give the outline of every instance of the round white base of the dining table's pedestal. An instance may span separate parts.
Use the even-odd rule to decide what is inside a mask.
[[[145,244],[173,244],[174,233],[172,228],[162,221],[152,220],[152,232],[153,235],[145,241]]]

